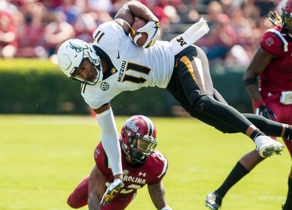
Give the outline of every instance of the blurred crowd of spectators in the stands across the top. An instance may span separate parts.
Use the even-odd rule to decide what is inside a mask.
[[[128,0],[0,0],[0,57],[52,57],[71,38],[92,42],[92,33],[113,19]],[[250,62],[262,34],[280,14],[283,0],[141,0],[171,40],[203,16],[210,32],[196,44],[210,62]]]

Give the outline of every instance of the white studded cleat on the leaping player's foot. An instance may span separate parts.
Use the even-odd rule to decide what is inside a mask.
[[[258,136],[255,138],[256,150],[261,157],[271,157],[273,154],[280,155],[284,146],[271,139],[269,136]]]

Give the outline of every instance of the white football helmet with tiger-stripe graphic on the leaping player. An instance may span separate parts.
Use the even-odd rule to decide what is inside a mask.
[[[59,67],[69,79],[90,85],[94,85],[103,80],[103,71],[99,56],[96,54],[92,45],[90,46],[82,40],[71,39],[65,41],[60,46],[57,57]],[[91,63],[91,68],[88,77],[82,79],[77,74],[86,59]],[[93,75],[95,73],[94,69],[97,72],[96,76]],[[94,81],[91,81],[92,77],[95,78]]]

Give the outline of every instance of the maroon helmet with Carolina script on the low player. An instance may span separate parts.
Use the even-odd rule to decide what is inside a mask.
[[[120,144],[131,160],[145,163],[157,145],[156,128],[151,119],[143,115],[127,119],[120,133]]]

